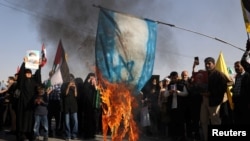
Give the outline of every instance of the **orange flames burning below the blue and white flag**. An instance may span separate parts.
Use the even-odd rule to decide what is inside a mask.
[[[129,87],[126,84],[102,80],[99,89],[104,111],[102,115],[104,141],[107,140],[108,128],[112,132],[112,141],[122,141],[124,137],[128,137],[129,141],[137,141],[139,130],[132,113],[137,104]]]

